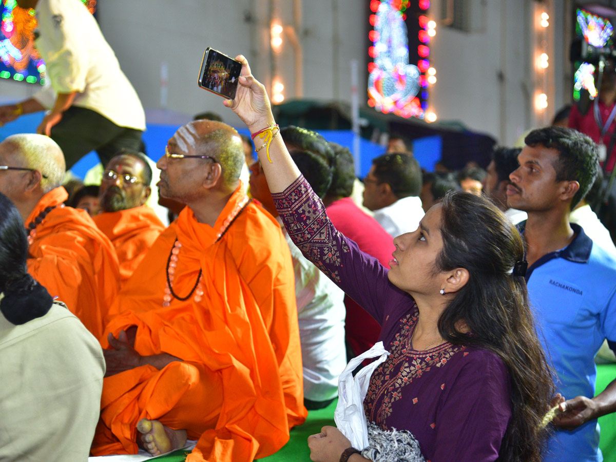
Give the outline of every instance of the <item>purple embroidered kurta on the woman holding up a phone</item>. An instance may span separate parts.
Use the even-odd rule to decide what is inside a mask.
[[[381,324],[391,354],[370,378],[364,408],[383,429],[408,430],[431,462],[498,458],[509,418],[509,374],[495,354],[445,343],[415,351],[418,310],[392,285],[387,269],[331,224],[304,177],[273,194],[286,229],[304,256]]]

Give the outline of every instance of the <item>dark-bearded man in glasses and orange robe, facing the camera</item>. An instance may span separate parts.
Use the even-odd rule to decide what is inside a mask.
[[[100,182],[102,213],[94,222],[116,249],[121,285],[164,229],[154,210],[145,205],[151,182],[152,169],[145,155],[131,150],[122,150],[109,161]]]

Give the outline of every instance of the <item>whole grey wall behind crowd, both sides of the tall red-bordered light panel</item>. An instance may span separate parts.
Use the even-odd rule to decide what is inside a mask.
[[[433,0],[429,16],[438,22],[440,2]],[[437,26],[431,43],[431,62],[437,83],[430,106],[439,121],[463,121],[503,144],[512,144],[537,123],[534,108],[534,67],[530,20],[532,0],[469,0],[474,16],[469,33]],[[349,101],[350,62],[360,60],[365,73],[366,3],[363,0],[302,0],[303,96]],[[562,71],[568,69],[565,43],[569,0],[556,2],[551,17],[556,52],[550,57],[557,71],[550,116],[569,99]],[[293,0],[99,0],[99,23],[137,89],[144,107],[161,109],[161,63],[168,64],[168,103],[172,111],[193,115],[204,110],[220,113],[241,126],[222,99],[197,87],[197,74],[207,46],[230,55],[243,53],[253,73],[265,84],[272,77],[269,51],[270,9],[283,23],[293,23]],[[286,99],[296,94],[294,52],[285,37],[276,57],[277,73]],[[1,81],[0,100],[28,97],[32,86]],[[360,95],[365,95],[362,79]]]

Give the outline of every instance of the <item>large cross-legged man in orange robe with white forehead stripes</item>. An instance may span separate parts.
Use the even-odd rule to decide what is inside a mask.
[[[270,455],[306,418],[293,266],[280,225],[246,197],[229,126],[194,121],[158,161],[161,195],[187,205],[112,311],[92,453],[187,461]]]

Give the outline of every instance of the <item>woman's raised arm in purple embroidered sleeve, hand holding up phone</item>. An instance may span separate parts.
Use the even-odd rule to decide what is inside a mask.
[[[265,87],[251,75],[245,57],[240,55],[236,59],[242,63],[240,81],[235,99],[225,100],[225,106],[232,108],[256,133],[275,124],[274,116]],[[258,145],[260,139],[256,141]],[[322,201],[291,159],[282,137],[275,136],[269,149],[260,149],[258,155],[278,214],[307,259],[379,323],[384,306],[392,306],[400,298],[408,302],[408,296],[389,283],[383,265],[336,230]]]

